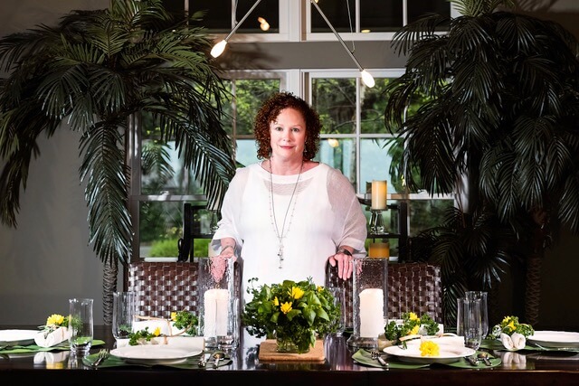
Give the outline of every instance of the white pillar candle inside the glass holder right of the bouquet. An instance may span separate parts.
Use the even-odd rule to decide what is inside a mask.
[[[384,334],[384,291],[366,288],[360,292],[360,336],[378,338]]]

